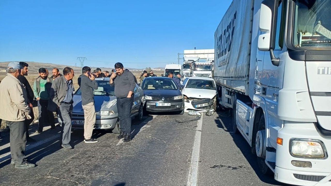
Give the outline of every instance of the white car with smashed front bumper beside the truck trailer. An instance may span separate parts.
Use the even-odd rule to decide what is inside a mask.
[[[216,110],[217,91],[213,78],[189,77],[183,81],[184,112]]]

